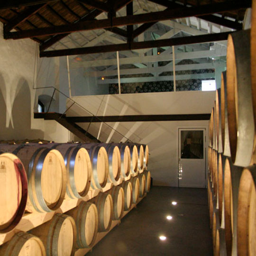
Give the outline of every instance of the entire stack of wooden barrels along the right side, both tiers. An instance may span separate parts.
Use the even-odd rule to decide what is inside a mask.
[[[227,71],[209,123],[214,255],[256,255],[256,1],[251,30],[228,37]]]

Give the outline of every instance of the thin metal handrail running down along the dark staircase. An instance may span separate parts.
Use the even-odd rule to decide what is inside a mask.
[[[100,121],[101,121],[102,123],[104,123],[106,126],[108,126],[108,127],[111,128],[112,130],[114,130],[115,132],[117,132],[120,136],[126,138],[128,142],[131,142],[131,143],[132,143],[132,141],[131,141],[128,137],[125,137],[125,136],[124,136],[123,134],[121,134],[118,130],[112,128],[112,127],[111,127],[110,125],[108,125],[106,122],[102,121],[100,118],[98,118],[97,116],[95,116],[94,114],[92,114],[89,110],[86,110],[82,105],[80,105],[79,103],[77,103],[77,102],[75,102],[74,100],[72,100],[69,96],[67,96],[65,93],[63,93],[62,91],[58,90],[58,89],[55,88],[54,86],[37,87],[37,88],[33,88],[33,89],[36,90],[36,89],[48,89],[48,88],[53,88],[53,89],[54,89],[54,92],[53,92],[53,95],[52,95],[52,97],[51,97],[51,101],[50,101],[50,104],[49,104],[49,106],[48,106],[47,112],[49,112],[49,110],[50,110],[50,106],[51,106],[51,104],[52,104],[53,97],[54,97],[54,95],[55,95],[55,91],[58,91],[59,93],[61,93],[62,95],[64,95],[66,98],[68,98],[70,101],[73,102],[73,103],[71,104],[71,106],[69,106],[68,109],[66,109],[66,110],[64,111],[64,113],[61,114],[61,116],[59,117],[59,119],[61,119],[61,118],[63,117],[63,115],[67,112],[67,110],[69,110],[74,104],[76,104],[76,105],[78,105],[80,108],[82,108],[83,110],[85,110],[87,113],[89,113],[89,114],[91,115],[91,119],[96,118],[96,119],[100,120]],[[89,126],[88,126],[88,128],[87,128],[87,130],[86,130],[85,136],[86,136],[86,134],[87,134],[88,129],[90,128],[90,126],[91,126],[91,122],[89,123]]]

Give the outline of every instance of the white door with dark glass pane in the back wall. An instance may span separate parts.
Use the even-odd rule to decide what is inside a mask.
[[[205,128],[179,128],[179,187],[205,188],[205,142]]]

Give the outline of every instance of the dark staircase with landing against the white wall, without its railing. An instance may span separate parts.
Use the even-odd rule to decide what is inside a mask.
[[[101,142],[75,122],[67,120],[66,115],[56,112],[34,113],[35,119],[55,120],[84,142]]]

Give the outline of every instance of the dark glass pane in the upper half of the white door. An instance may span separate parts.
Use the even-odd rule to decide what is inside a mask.
[[[181,131],[181,158],[203,159],[203,131]]]

